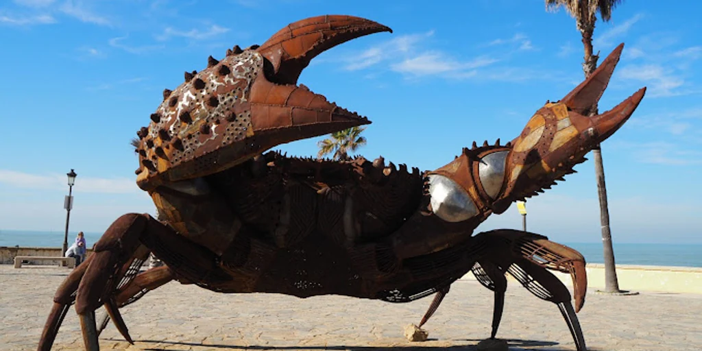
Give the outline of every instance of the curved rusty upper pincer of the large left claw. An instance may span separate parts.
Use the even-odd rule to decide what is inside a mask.
[[[296,84],[300,73],[319,53],[351,39],[378,32],[392,33],[392,29],[365,18],[317,16],[280,29],[258,48],[258,52],[272,64],[271,81]]]

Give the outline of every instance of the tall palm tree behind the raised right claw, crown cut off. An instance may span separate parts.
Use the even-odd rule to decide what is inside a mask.
[[[592,33],[595,32],[595,14],[600,13],[603,21],[611,18],[614,7],[622,0],[545,0],[548,10],[557,10],[559,7],[575,18],[578,31],[583,37],[585,57],[583,72],[585,79],[597,68],[597,55],[592,53]],[[590,115],[597,114],[597,105],[592,106]],[[602,165],[602,149],[597,145],[592,149],[595,157],[595,177],[597,178],[597,194],[600,197],[600,223],[602,224],[602,250],[604,251],[604,292],[620,293],[619,283],[614,266],[614,249],[612,248],[611,232],[609,231],[609,208],[607,206],[607,187],[604,185],[604,166]]]

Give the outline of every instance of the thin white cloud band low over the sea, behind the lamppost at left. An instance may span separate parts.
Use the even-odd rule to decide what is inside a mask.
[[[38,175],[0,169],[0,183],[13,187],[35,190],[63,190],[67,187],[66,180],[66,175],[60,173]],[[75,192],[131,193],[141,191],[136,187],[134,180],[127,178],[80,177],[77,178],[76,183],[77,185],[73,189]]]

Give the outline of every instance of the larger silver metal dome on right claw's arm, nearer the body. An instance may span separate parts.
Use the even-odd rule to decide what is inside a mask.
[[[432,212],[446,222],[462,222],[477,215],[473,200],[453,180],[438,174],[429,176]]]

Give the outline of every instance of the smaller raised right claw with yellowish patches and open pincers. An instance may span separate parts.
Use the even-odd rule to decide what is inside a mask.
[[[511,142],[506,159],[506,186],[494,206],[505,211],[514,200],[532,197],[554,185],[555,180],[574,173],[573,167],[585,161],[585,154],[600,145],[631,117],[644,98],[642,88],[614,109],[586,116],[597,106],[607,87],[623,45],[618,46],[595,72],[563,100],[547,103],[529,120]]]

